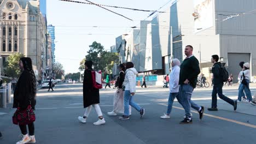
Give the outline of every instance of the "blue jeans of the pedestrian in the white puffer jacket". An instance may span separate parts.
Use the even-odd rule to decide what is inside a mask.
[[[131,96],[130,91],[125,91],[124,92],[124,116],[129,116],[129,105],[131,105],[134,109],[137,111],[141,110],[141,107],[138,106],[138,104],[133,102],[133,97]]]

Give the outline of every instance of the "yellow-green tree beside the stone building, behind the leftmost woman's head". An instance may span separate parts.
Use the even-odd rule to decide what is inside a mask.
[[[20,76],[21,71],[19,62],[21,57],[24,57],[22,53],[14,53],[8,57],[8,61],[4,64],[6,66],[4,72],[7,76],[15,78]]]

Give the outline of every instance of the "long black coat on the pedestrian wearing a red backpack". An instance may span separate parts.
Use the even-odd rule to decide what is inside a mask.
[[[100,104],[100,91],[92,87],[92,69],[84,71],[83,95],[84,95],[84,108],[93,104]]]

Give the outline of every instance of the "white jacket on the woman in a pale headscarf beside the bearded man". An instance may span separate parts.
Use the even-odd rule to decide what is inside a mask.
[[[174,66],[172,68],[172,71],[170,73],[170,93],[178,93],[179,92],[179,71],[181,68],[179,68],[178,65]]]

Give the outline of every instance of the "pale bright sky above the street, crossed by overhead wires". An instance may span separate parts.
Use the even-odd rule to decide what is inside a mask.
[[[91,2],[147,10],[158,10],[167,3],[160,9],[162,11],[171,4],[170,0],[91,0]],[[151,12],[106,8],[129,17],[133,21],[96,5],[59,0],[47,1],[48,25],[55,26],[55,60],[63,65],[65,74],[79,71],[79,62],[85,58],[92,42],[97,41],[104,46],[104,49],[110,50],[110,46],[115,45],[115,38],[131,31],[132,26],[139,27],[139,22],[151,14]],[[153,16],[147,20],[152,20]]]

